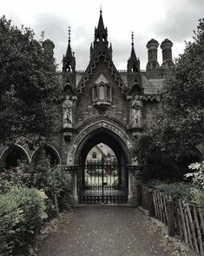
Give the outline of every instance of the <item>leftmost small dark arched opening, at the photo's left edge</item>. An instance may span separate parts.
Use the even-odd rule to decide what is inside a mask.
[[[19,161],[29,164],[30,158],[23,147],[20,145],[11,145],[3,152],[1,161],[6,169],[10,169],[17,167],[19,165]]]

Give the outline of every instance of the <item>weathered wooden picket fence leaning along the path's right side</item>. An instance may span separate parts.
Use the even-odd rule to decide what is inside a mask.
[[[151,217],[168,226],[168,235],[183,239],[195,252],[204,256],[204,210],[189,205],[146,185],[138,185],[139,205],[148,210]]]

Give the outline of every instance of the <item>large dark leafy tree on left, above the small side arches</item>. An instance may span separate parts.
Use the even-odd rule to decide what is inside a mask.
[[[56,120],[55,59],[34,32],[0,19],[0,142],[46,138]]]

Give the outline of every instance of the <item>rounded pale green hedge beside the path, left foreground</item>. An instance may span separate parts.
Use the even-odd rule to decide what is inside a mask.
[[[28,255],[47,218],[43,191],[12,187],[0,195],[0,255]]]

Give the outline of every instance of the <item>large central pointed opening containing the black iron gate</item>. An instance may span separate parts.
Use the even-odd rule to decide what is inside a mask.
[[[93,155],[97,158],[93,158]],[[113,131],[99,128],[83,139],[76,150],[79,165],[79,203],[126,203],[128,200],[128,149]]]

